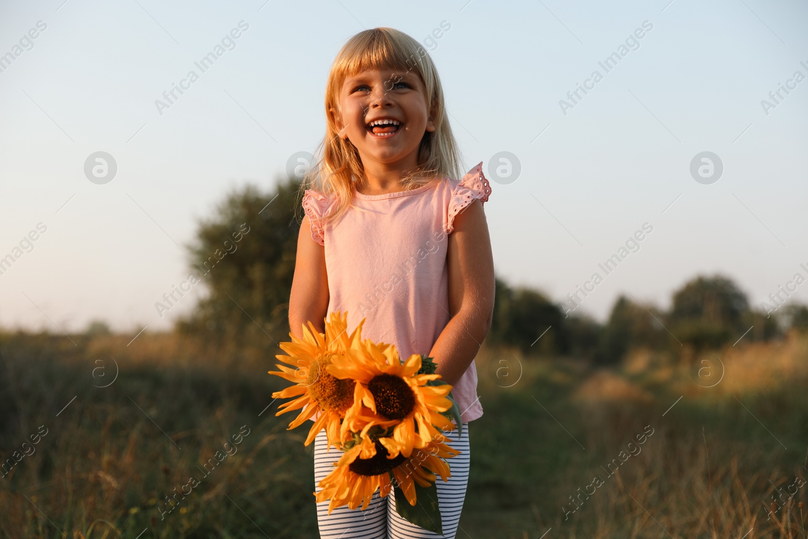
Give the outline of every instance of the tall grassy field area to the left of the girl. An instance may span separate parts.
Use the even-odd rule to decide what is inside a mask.
[[[71,338],[77,346],[46,335],[2,339],[0,455],[40,425],[49,431],[0,480],[2,533],[316,536],[311,449],[273,415],[277,403],[259,416],[280,389],[266,374],[271,353],[261,364],[174,335],[141,335],[130,347],[131,337]],[[96,387],[112,381],[112,357],[117,380]],[[93,377],[96,360],[106,380]],[[234,445],[239,432],[249,434]],[[235,453],[210,463],[228,441]],[[166,500],[191,476],[200,484],[189,495]]]

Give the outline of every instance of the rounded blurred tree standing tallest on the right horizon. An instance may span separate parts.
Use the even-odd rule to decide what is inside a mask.
[[[697,276],[674,293],[668,329],[699,352],[743,335],[748,312],[747,297],[732,280]]]

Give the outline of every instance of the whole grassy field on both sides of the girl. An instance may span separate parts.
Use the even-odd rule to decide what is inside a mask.
[[[277,348],[132,337],[0,335],[0,536],[318,537]],[[608,370],[484,347],[478,374],[457,537],[808,537],[804,336]]]

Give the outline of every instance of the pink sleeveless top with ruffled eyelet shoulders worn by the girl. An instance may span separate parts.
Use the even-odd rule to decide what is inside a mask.
[[[312,238],[326,249],[328,313],[347,310],[348,331],[365,318],[362,336],[394,344],[403,359],[428,354],[450,318],[446,254],[452,223],[490,192],[482,162],[461,180],[433,179],[411,191],[363,195],[355,189],[343,217],[311,225]],[[330,196],[311,189],[303,197],[309,220],[333,205]],[[482,415],[473,360],[452,395],[464,422]]]

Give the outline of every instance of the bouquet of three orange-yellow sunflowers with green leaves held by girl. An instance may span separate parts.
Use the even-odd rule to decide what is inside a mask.
[[[269,373],[294,385],[272,397],[294,399],[276,415],[300,410],[289,428],[314,419],[305,445],[325,429],[327,450],[343,452],[314,494],[330,500],[329,513],[343,505],[364,510],[377,490],[385,497],[394,485],[408,502],[397,500],[398,513],[441,533],[435,482],[448,480],[446,459],[460,453],[443,434],[456,428],[450,419],[462,425],[452,386],[432,358],[402,360],[393,345],[362,339],[363,323],[348,334],[347,313],[331,313],[325,334],[308,322],[303,339],[290,334],[292,342],[280,343],[288,355],[276,357],[285,365]]]

